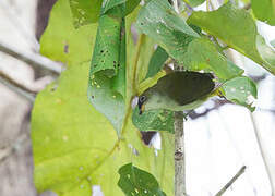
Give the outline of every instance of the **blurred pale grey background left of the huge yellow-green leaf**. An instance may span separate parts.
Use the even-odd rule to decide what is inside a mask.
[[[1,196],[53,195],[38,194],[33,184],[29,120],[34,95],[56,77],[35,63],[51,64],[39,56],[38,41],[55,2],[0,1]]]

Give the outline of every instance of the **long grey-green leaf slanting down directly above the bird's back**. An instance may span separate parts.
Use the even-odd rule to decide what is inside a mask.
[[[241,69],[218,52],[214,44],[200,38],[164,0],[145,4],[140,11],[136,26],[188,70],[213,71],[224,81],[242,73]]]

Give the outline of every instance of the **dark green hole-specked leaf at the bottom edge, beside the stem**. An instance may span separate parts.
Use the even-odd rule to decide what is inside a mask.
[[[132,163],[125,164],[119,169],[120,179],[119,187],[127,196],[138,195],[155,195],[165,196],[166,194],[160,189],[158,182],[151,173],[141,170]]]

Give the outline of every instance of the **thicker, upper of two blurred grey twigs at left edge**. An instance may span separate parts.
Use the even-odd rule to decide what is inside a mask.
[[[29,65],[49,70],[53,74],[60,74],[62,71],[62,66],[60,63],[53,62],[38,53],[20,51],[19,49],[11,46],[7,46],[2,42],[0,42],[0,51],[12,56],[13,58],[19,59]]]

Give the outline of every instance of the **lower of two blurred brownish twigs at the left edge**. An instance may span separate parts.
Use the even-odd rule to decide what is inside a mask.
[[[9,76],[4,75],[0,72],[0,83],[10,88],[12,91],[15,91],[20,96],[24,97],[25,99],[34,102],[35,94],[34,91],[27,89],[25,86],[14,82]]]

